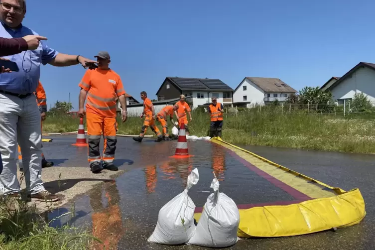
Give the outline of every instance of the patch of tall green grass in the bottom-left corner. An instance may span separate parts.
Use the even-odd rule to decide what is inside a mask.
[[[39,214],[35,205],[20,198],[13,201],[16,211],[10,211],[8,199],[0,197],[0,250],[87,250],[95,242],[102,243],[86,230],[69,225],[49,227],[52,221],[74,215],[74,211],[48,221],[47,212]]]

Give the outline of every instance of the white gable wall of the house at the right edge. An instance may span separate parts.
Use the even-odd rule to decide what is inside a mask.
[[[375,70],[360,68],[351,77],[332,88],[332,99],[353,98],[356,93],[368,95],[370,101],[375,101]]]

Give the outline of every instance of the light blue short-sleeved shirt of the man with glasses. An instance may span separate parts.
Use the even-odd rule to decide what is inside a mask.
[[[0,25],[0,37],[18,38],[26,35],[38,35],[33,30],[20,24],[17,28],[9,28],[3,21]],[[40,78],[40,64],[47,64],[57,56],[58,52],[40,41],[36,50],[26,50],[19,54],[5,56],[18,66],[18,72],[0,74],[0,90],[15,94],[31,94],[36,90]]]

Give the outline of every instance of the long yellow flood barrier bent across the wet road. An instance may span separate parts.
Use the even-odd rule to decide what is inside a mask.
[[[290,205],[240,208],[238,237],[286,237],[311,234],[360,223],[366,216],[365,201],[358,188],[344,191],[280,166],[250,151],[214,137],[240,156],[250,170],[295,198]],[[199,221],[201,213],[195,213]]]

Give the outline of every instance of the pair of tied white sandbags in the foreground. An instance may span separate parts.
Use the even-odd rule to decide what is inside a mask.
[[[240,212],[231,198],[219,192],[216,177],[211,183],[214,193],[207,198],[198,225],[194,225],[195,205],[187,192],[198,180],[198,169],[195,168],[188,176],[186,189],[160,209],[156,228],[148,242],[164,245],[187,243],[215,248],[237,243]]]

